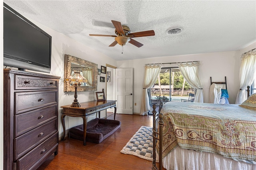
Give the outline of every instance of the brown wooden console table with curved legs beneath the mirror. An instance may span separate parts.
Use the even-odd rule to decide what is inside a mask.
[[[83,125],[84,125],[84,145],[86,145],[86,127],[87,127],[87,116],[92,115],[94,113],[99,113],[108,108],[115,109],[114,111],[114,120],[116,119],[116,101],[114,100],[106,100],[106,101],[89,101],[85,103],[80,103],[81,107],[70,107],[70,105],[61,106],[63,108],[61,115],[61,123],[63,127],[63,135],[62,140],[64,140],[66,134],[65,127],[65,116],[71,117],[82,117]]]

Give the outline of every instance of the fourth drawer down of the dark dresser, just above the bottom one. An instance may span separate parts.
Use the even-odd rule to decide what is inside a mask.
[[[14,139],[15,146],[15,159],[20,158],[26,152],[34,148],[40,142],[44,141],[46,138],[58,132],[58,121],[54,119],[40,127],[31,130]]]

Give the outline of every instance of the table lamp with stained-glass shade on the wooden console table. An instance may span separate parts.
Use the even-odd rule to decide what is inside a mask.
[[[77,87],[81,85],[81,83],[87,83],[88,80],[83,77],[81,74],[80,74],[80,70],[74,70],[74,74],[66,77],[65,81],[67,83],[70,83],[70,85],[74,86],[75,87],[75,99],[74,99],[74,102],[72,103],[72,105],[70,105],[70,107],[80,107],[80,104],[77,100]]]

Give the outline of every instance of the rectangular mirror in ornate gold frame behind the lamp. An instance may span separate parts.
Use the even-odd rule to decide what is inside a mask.
[[[81,83],[77,91],[97,91],[98,64],[68,54],[65,54],[64,62],[64,79],[72,75],[74,70],[80,70],[80,74],[88,80],[86,83]],[[70,91],[75,91],[74,87],[64,81],[64,92]]]

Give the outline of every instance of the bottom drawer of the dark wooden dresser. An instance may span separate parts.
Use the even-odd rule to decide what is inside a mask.
[[[42,142],[36,148],[28,152],[16,161],[19,170],[31,170],[38,167],[41,160],[43,160],[48,153],[52,152],[58,146],[58,132],[50,138]]]

